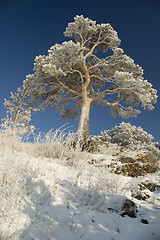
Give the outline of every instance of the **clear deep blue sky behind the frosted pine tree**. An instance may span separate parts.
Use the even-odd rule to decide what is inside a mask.
[[[160,1],[159,0],[1,0],[0,1],[0,119],[6,116],[4,98],[29,73],[34,58],[47,54],[63,35],[74,16],[84,15],[97,23],[110,23],[118,32],[125,53],[144,69],[144,78],[160,95]],[[90,134],[100,134],[123,121],[109,115],[109,108],[91,109]],[[155,140],[160,140],[160,99],[155,110],[143,110],[137,118],[124,119],[142,126]],[[76,131],[78,122],[67,121]],[[42,131],[64,124],[54,109],[35,113],[32,124]]]

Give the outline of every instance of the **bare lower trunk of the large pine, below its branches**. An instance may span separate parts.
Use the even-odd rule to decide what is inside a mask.
[[[91,99],[86,98],[82,104],[81,116],[80,116],[78,131],[77,131],[77,140],[80,146],[84,144],[87,138],[89,137],[90,105],[91,105]]]

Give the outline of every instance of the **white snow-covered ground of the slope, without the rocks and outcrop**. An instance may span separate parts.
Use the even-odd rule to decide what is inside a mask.
[[[113,161],[111,150],[65,152],[59,145],[54,157],[42,157],[40,146],[33,151],[32,144],[6,141],[0,142],[1,240],[160,240],[160,189],[148,190],[146,200],[132,197],[139,182],[160,181],[159,173],[131,178],[88,163]],[[136,204],[136,218],[121,216],[125,199]]]

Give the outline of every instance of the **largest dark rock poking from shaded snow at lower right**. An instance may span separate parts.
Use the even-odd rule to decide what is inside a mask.
[[[136,204],[130,199],[126,199],[122,206],[121,216],[124,217],[125,215],[127,215],[131,218],[136,218],[137,212],[138,211],[137,211]]]

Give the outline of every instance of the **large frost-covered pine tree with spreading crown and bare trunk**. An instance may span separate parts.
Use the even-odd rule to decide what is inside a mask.
[[[144,80],[142,68],[119,48],[121,41],[109,23],[76,16],[64,35],[72,40],[55,44],[47,56],[35,59],[29,106],[56,107],[63,118],[80,116],[77,137],[82,143],[89,136],[93,104],[110,106],[113,116],[122,117],[139,114],[140,103],[154,108],[157,91]]]

